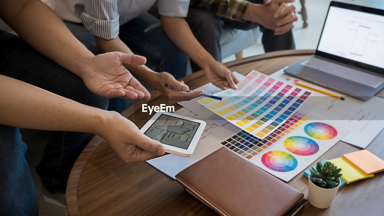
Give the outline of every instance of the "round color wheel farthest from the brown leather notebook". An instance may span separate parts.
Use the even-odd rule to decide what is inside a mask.
[[[330,140],[337,136],[333,126],[320,122],[309,123],[304,127],[304,131],[308,136],[318,140]]]

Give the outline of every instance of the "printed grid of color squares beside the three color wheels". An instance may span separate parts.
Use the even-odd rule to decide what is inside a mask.
[[[243,156],[244,158],[251,159],[253,156],[257,155],[268,146],[293,131],[299,125],[303,124],[309,118],[310,116],[303,113],[295,113],[295,115],[293,115],[289,120],[286,120],[283,125],[263,140],[252,136],[246,131],[240,131],[224,141],[221,141],[220,144],[236,152],[238,155]]]

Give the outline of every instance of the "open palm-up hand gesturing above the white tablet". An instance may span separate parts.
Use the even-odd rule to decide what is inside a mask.
[[[129,73],[123,63],[144,65],[146,58],[121,52],[100,54],[84,64],[79,76],[89,90],[107,98],[150,99],[149,92]]]

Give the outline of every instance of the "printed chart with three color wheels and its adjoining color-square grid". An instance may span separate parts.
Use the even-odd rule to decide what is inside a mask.
[[[264,140],[242,131],[222,141],[220,145],[235,151],[268,173],[289,181],[349,132],[334,121],[308,118],[305,114],[295,113]],[[255,141],[250,142],[252,140]]]

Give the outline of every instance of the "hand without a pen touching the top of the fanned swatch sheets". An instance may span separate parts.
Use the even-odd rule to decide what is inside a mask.
[[[218,61],[211,61],[202,68],[207,79],[218,88],[227,90],[228,88],[237,89],[239,82],[232,71]]]

